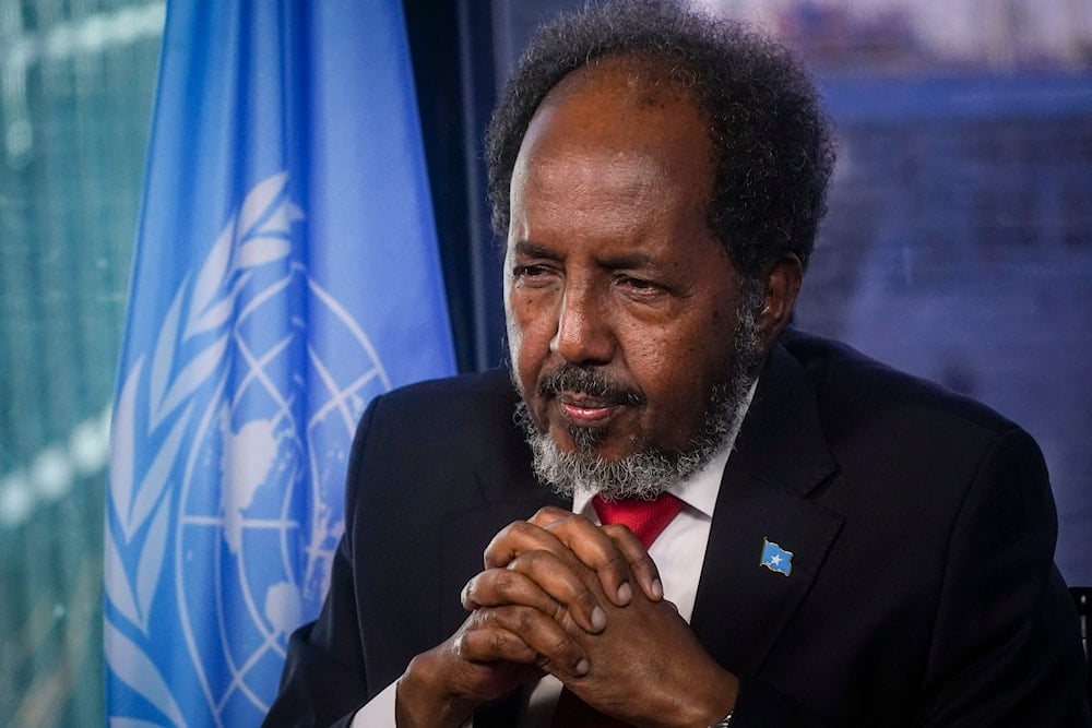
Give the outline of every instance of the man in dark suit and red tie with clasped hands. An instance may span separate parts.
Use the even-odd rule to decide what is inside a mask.
[[[369,407],[270,725],[1089,725],[1034,442],[786,330],[833,155],[783,50],[569,16],[488,146],[511,382]]]

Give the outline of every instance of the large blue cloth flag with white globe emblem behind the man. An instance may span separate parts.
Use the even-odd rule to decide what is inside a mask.
[[[453,369],[401,3],[170,4],[114,408],[110,725],[260,723],[358,417]]]

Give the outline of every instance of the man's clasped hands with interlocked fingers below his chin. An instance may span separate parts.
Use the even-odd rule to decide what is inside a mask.
[[[734,705],[736,678],[663,598],[625,526],[543,509],[494,537],[461,598],[470,616],[399,681],[400,727],[461,726],[546,673],[634,726],[708,726]]]

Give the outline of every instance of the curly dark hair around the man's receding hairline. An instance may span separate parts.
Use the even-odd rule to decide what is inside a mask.
[[[740,274],[755,278],[787,253],[806,267],[834,166],[811,79],[763,35],[672,2],[607,2],[538,28],[486,132],[496,234],[508,234],[512,168],[538,105],[572,71],[613,56],[663,63],[705,115],[715,159],[709,227]]]

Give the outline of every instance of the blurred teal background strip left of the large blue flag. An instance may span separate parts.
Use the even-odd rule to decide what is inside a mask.
[[[162,2],[0,0],[0,724],[103,723],[103,503]]]

